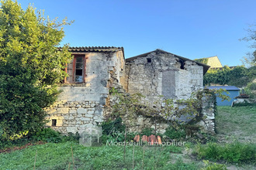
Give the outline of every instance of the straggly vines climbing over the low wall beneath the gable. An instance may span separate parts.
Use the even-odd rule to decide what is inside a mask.
[[[168,121],[173,128],[178,128],[184,123],[179,120],[179,117],[182,115],[199,117],[201,110],[201,99],[196,96],[196,93],[188,100],[171,100],[160,96],[153,102],[140,93],[129,95],[114,92],[112,95],[118,98],[118,102],[112,107],[110,117],[112,120],[114,117],[123,117],[128,127],[134,126],[140,115],[150,117],[154,124],[157,124],[159,120]]]

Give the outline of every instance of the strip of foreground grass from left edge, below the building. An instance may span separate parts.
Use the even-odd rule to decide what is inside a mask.
[[[0,169],[33,169],[36,156],[36,169],[73,169],[71,145],[74,151],[74,166],[77,169],[131,169],[133,167],[133,147],[126,147],[126,162],[123,161],[123,147],[102,146],[85,148],[73,142],[48,143],[36,145],[21,151],[0,154]],[[184,163],[181,159],[173,163],[171,152],[181,152],[182,148],[136,146],[134,151],[134,169],[198,169],[193,163]],[[144,153],[144,154],[143,154]],[[143,156],[144,155],[144,156]],[[144,157],[144,163],[143,162]]]

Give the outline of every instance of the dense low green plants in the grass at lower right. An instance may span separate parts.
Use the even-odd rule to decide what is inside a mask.
[[[196,153],[198,158],[206,158],[213,161],[224,160],[233,163],[254,163],[256,145],[239,142],[226,145],[209,143],[207,145],[197,145]]]

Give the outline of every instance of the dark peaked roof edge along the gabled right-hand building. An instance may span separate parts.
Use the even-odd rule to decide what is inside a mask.
[[[147,56],[147,55],[150,54],[150,53],[168,53],[168,52],[166,52],[166,51],[164,51],[164,50],[161,50],[161,49],[156,49],[156,50],[151,51],[151,52],[148,52],[148,53],[144,53],[144,54],[140,54],[140,55],[138,55],[138,56],[130,57],[130,58],[126,59],[126,62],[129,63],[129,62],[130,62],[131,60],[133,60],[133,59],[137,59],[137,58],[139,58],[139,57],[145,57],[145,56]],[[185,61],[192,61],[192,62],[197,63],[199,66],[203,66],[203,74],[205,74],[205,73],[207,72],[207,70],[209,69],[209,67],[210,67],[210,66],[208,66],[208,65],[206,65],[206,64],[199,63],[199,62],[194,61],[194,60],[192,60],[192,59],[187,59],[187,58],[185,58],[185,57],[183,57],[183,56],[178,56],[178,55],[173,54],[173,53],[168,53],[168,54],[171,54],[171,55],[177,57],[178,59],[182,59],[183,62],[185,62]]]

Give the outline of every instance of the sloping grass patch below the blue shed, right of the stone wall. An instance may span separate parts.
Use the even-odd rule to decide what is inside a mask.
[[[216,131],[224,141],[255,143],[256,107],[217,107]],[[230,140],[229,140],[230,139]]]

